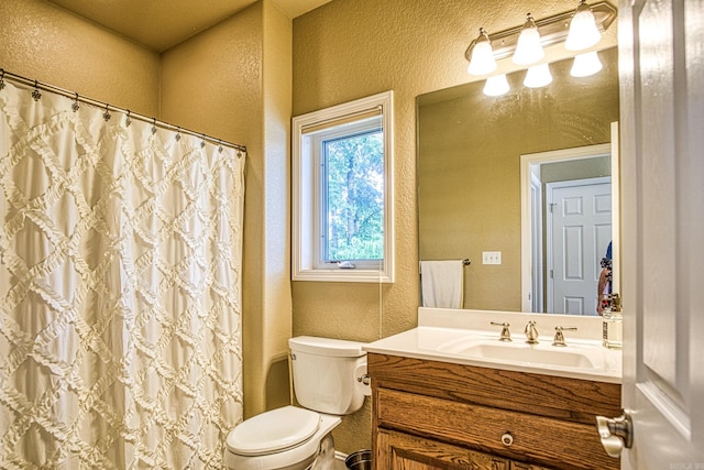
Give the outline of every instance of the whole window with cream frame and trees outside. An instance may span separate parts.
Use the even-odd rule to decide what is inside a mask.
[[[387,91],[294,118],[294,281],[394,281],[392,106]]]

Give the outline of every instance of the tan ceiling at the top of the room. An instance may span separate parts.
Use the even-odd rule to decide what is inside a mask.
[[[51,0],[146,47],[163,52],[257,0]],[[289,18],[330,0],[273,0]]]

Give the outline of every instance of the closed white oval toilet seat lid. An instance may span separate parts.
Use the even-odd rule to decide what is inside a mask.
[[[299,446],[320,427],[320,414],[296,406],[262,413],[237,426],[227,446],[240,456],[266,456]]]

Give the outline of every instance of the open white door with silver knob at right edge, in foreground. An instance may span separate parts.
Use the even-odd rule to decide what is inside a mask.
[[[704,1],[622,0],[623,469],[704,468]]]

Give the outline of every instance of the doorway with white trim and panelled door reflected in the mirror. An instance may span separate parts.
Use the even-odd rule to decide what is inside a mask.
[[[597,314],[602,260],[618,214],[617,160],[609,144],[520,156],[525,311]]]

